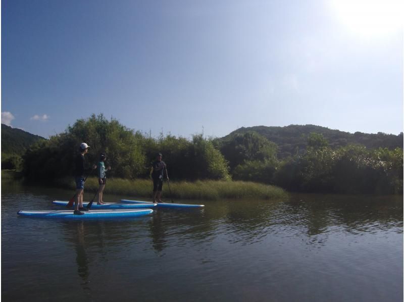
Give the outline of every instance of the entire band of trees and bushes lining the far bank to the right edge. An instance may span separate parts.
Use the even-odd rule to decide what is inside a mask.
[[[91,146],[88,165],[106,152],[113,167],[110,177],[145,178],[161,152],[173,180],[234,179],[305,192],[402,193],[402,148],[331,147],[318,133],[305,139],[305,149],[278,159],[277,144],[257,132],[237,133],[225,140],[203,135],[156,139],[114,119],[92,115],[32,145],[23,156],[23,173],[27,179],[47,182],[72,175],[78,145],[85,141]]]

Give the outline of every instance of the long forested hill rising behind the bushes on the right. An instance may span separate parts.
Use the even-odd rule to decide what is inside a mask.
[[[389,148],[403,147],[402,132],[399,135],[385,134],[379,132],[377,134],[368,134],[362,132],[343,132],[332,130],[326,127],[315,125],[289,125],[285,127],[241,127],[230,134],[222,137],[220,140],[226,141],[234,135],[244,134],[249,131],[255,131],[268,140],[273,141],[279,147],[278,157],[285,158],[296,154],[300,149],[307,146],[307,137],[310,133],[315,132],[322,134],[331,147],[340,147],[348,144],[362,144],[367,148]]]

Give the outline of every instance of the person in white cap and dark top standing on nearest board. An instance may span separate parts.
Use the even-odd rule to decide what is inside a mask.
[[[75,181],[76,181],[76,199],[74,204],[74,214],[75,215],[83,215],[84,213],[81,211],[88,211],[83,207],[83,192],[84,192],[84,172],[86,170],[84,168],[84,155],[88,152],[88,148],[90,146],[87,145],[85,142],[80,144],[80,154],[76,157],[76,170],[75,170]],[[92,169],[96,169],[97,166],[93,165]]]

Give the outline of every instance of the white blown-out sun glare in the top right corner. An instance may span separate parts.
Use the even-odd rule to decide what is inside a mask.
[[[349,31],[379,36],[403,26],[402,0],[333,0],[332,8]]]

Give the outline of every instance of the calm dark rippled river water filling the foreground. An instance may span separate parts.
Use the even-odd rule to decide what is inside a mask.
[[[125,221],[16,214],[72,194],[3,183],[3,301],[403,300],[402,196],[193,200],[205,209]]]

